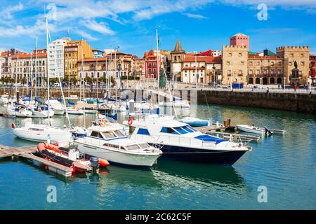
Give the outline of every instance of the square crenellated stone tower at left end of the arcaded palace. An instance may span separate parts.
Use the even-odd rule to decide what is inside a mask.
[[[230,83],[246,83],[248,74],[249,48],[238,45],[223,45],[223,80],[224,85]]]

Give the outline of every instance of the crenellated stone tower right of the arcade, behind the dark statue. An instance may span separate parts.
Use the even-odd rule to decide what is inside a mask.
[[[282,46],[277,48],[277,56],[284,60],[284,76],[286,84],[291,83],[291,71],[294,69],[294,62],[298,65],[298,78],[301,84],[308,83],[310,47],[308,46]]]

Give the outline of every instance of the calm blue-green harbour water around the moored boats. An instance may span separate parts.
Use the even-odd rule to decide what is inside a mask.
[[[198,111],[201,118],[287,134],[251,144],[233,167],[159,160],[153,169],[112,165],[98,176],[64,179],[28,160],[0,160],[0,209],[316,209],[316,116],[206,105]],[[0,118],[0,144],[30,144],[13,136],[13,121],[30,120]],[[64,119],[52,122],[61,126]],[[48,186],[57,188],[57,203],[46,202]],[[267,203],[258,203],[258,186],[268,188]]]

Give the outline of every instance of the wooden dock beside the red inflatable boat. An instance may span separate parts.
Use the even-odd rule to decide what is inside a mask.
[[[37,152],[37,146],[24,146],[24,147],[9,147],[9,146],[0,146],[0,158],[20,156],[22,158],[27,158],[29,160],[37,161],[48,167],[48,170],[60,174],[62,176],[72,176],[72,168],[65,167],[56,162],[51,162],[40,158],[32,153]]]

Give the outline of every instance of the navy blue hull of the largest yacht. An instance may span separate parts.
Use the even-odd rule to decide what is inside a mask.
[[[157,144],[150,144],[157,146]],[[199,162],[216,165],[234,165],[239,158],[246,153],[246,151],[218,151],[205,150],[200,148],[189,148],[181,146],[161,146],[160,150],[163,152],[161,158],[171,158],[173,160],[185,162]]]

